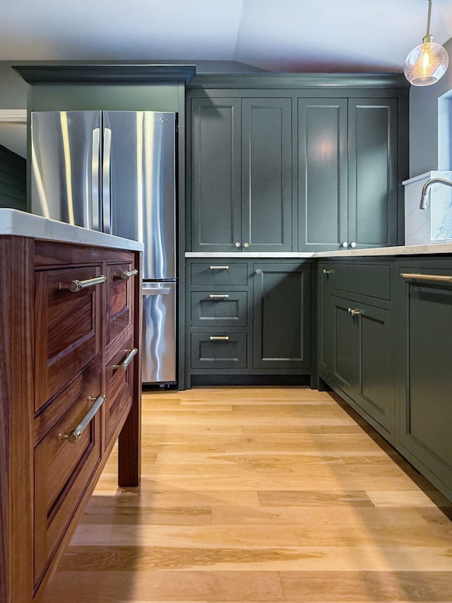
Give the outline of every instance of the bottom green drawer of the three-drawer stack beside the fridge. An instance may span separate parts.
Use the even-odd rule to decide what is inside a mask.
[[[191,333],[191,368],[246,368],[246,333]]]

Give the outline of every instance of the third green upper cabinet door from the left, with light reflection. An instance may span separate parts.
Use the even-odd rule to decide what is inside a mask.
[[[299,250],[347,241],[347,99],[298,99]]]

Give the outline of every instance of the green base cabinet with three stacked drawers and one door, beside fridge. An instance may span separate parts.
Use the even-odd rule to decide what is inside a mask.
[[[309,375],[310,262],[215,257],[186,268],[187,386]]]

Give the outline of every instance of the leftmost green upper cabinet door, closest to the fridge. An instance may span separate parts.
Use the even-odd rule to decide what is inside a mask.
[[[191,249],[237,251],[242,241],[242,105],[191,99]]]

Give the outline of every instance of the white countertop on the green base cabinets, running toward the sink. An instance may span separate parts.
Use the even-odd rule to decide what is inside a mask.
[[[452,254],[452,243],[430,243],[429,245],[398,245],[396,247],[369,247],[368,249],[347,249],[340,251],[321,252],[273,252],[273,253],[208,253],[208,252],[186,252],[185,257],[280,257],[283,259],[297,259],[306,257],[376,257],[394,255],[426,255],[426,254]]]

